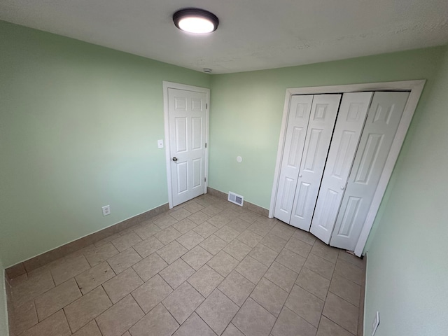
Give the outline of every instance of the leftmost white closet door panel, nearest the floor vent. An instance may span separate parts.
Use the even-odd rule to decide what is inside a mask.
[[[297,176],[299,175],[312,102],[312,95],[291,98],[274,210],[274,216],[286,223],[289,223],[293,209],[295,187],[297,186]]]

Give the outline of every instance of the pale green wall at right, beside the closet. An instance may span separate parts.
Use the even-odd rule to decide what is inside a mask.
[[[448,335],[448,49],[368,251],[365,335]]]

